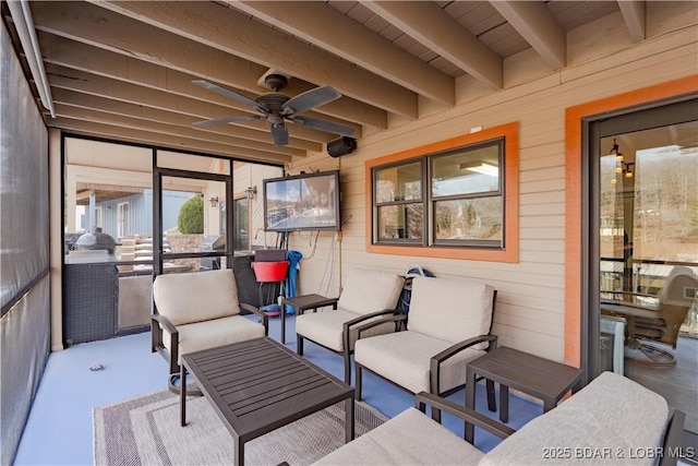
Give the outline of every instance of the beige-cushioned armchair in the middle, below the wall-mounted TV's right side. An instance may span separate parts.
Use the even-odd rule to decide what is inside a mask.
[[[349,271],[334,309],[301,313],[296,318],[297,353],[303,355],[303,340],[310,339],[344,357],[345,382],[351,383],[351,354],[357,339],[356,327],[397,309],[405,278],[394,272],[352,268]],[[369,332],[380,335],[395,330],[394,323],[374,326]]]

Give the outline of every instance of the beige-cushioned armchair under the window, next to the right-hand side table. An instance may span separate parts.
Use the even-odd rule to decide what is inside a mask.
[[[364,369],[414,394],[448,394],[465,386],[468,362],[496,346],[497,337],[491,334],[495,298],[492,286],[474,280],[414,277],[406,331],[366,337],[378,323],[359,327],[357,399]],[[488,399],[494,409],[492,383]]]

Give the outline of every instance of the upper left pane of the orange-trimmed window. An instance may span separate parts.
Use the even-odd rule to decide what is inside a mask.
[[[376,203],[422,199],[422,164],[400,165],[376,171]]]

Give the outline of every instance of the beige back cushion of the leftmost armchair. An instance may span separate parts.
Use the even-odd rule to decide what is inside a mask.
[[[172,324],[209,321],[240,313],[232,270],[158,275],[153,298]]]

